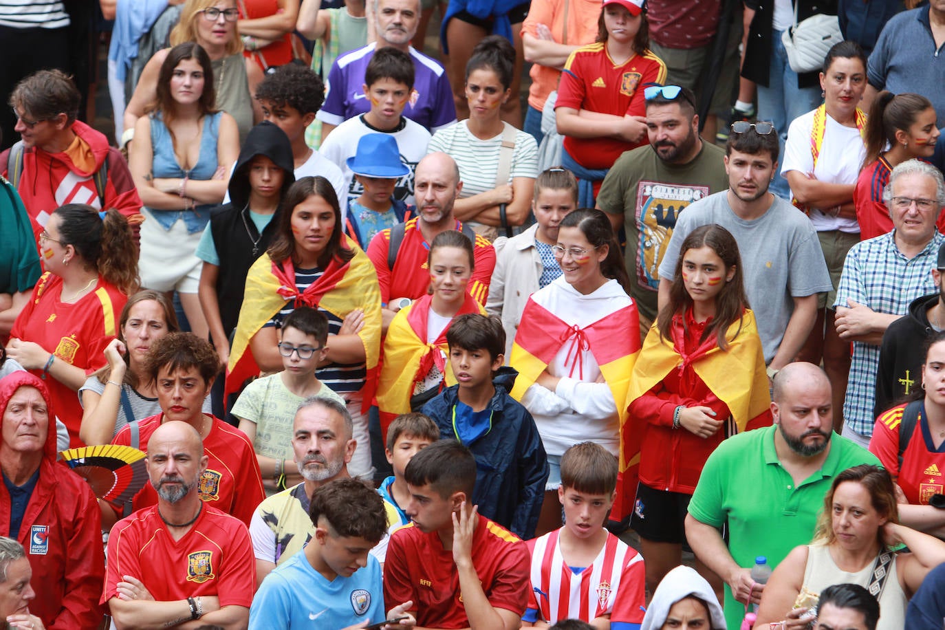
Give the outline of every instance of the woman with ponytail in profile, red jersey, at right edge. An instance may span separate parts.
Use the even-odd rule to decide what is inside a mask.
[[[860,223],[860,240],[892,230],[883,191],[897,164],[918,158],[928,160],[936,150],[939,132],[931,101],[920,94],[892,94],[884,90],[869,109],[864,142],[867,157],[853,189],[853,206]],[[938,230],[945,225],[938,217]]]

